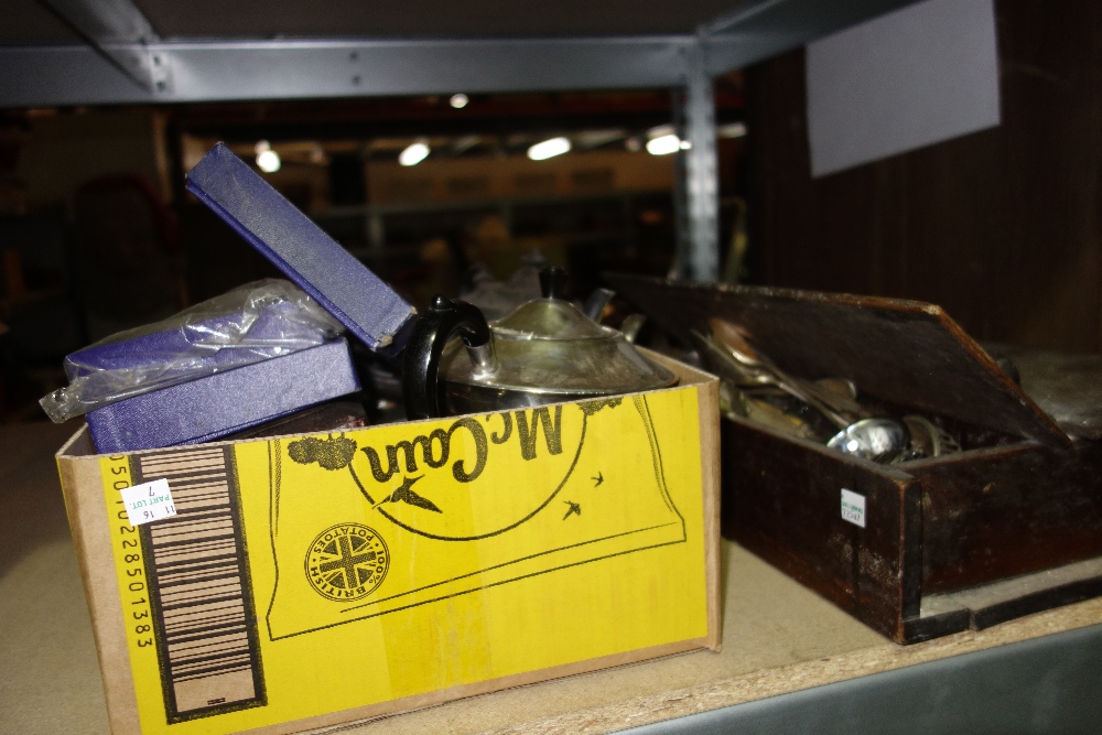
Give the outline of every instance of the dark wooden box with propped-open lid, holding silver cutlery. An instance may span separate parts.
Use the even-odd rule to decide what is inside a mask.
[[[1102,594],[1102,432],[1090,407],[1060,410],[1077,381],[1098,393],[1102,358],[1054,369],[1055,356],[1018,350],[1019,386],[931,304],[609,280],[685,344],[722,317],[793,375],[852,379],[975,437],[959,454],[880,465],[725,419],[724,536],[903,644]],[[863,527],[842,517],[843,489],[863,498]]]

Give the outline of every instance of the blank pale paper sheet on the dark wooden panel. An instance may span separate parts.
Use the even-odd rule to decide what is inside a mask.
[[[997,126],[993,0],[926,0],[808,44],[811,174]]]

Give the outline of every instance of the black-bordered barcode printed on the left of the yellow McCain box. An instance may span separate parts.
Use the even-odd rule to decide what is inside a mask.
[[[131,457],[176,515],[141,527],[170,723],[267,704],[229,447]]]

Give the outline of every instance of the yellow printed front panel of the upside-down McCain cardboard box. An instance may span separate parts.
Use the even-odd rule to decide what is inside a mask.
[[[105,457],[142,731],[707,634],[698,390]],[[138,528],[119,489],[166,478]]]

